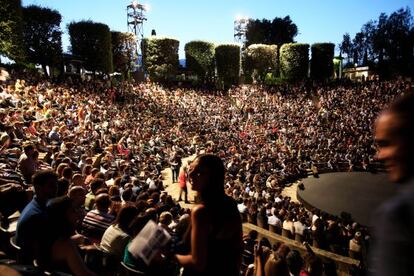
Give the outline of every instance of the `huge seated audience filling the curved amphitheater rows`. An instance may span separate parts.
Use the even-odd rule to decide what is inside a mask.
[[[307,210],[281,192],[309,171],[371,169],[374,120],[410,83],[238,86],[226,93],[121,86],[122,96],[115,96],[103,81],[53,84],[17,73],[1,83],[0,213],[7,225],[9,215],[21,212],[16,238],[30,248],[26,263],[44,256],[37,261],[48,268],[93,275],[74,244],[97,244],[151,275],[175,272],[177,262],[194,274],[206,254],[188,247],[200,242],[187,227],[198,213],[165,193],[161,172],[170,166],[180,182],[181,158],[200,153],[222,160],[223,192],[237,202],[242,220],[365,262],[369,235],[363,226],[346,214]],[[192,179],[194,164],[183,165]],[[211,196],[204,194],[204,201]],[[205,204],[204,216],[217,216],[226,202],[220,210]],[[149,220],[174,236],[169,246],[178,255],[167,259],[175,262],[160,257],[164,265],[147,265],[125,250]],[[211,269],[214,260],[201,268]]]

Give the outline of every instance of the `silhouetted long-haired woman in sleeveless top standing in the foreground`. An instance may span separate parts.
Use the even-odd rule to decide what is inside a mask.
[[[215,155],[200,155],[188,176],[201,203],[191,212],[191,252],[176,255],[183,275],[239,275],[242,224],[236,202],[224,193],[223,162]]]

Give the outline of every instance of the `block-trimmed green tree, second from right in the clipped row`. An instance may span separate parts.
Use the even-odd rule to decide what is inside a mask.
[[[303,80],[308,75],[309,44],[288,43],[280,48],[281,77],[289,81]]]

